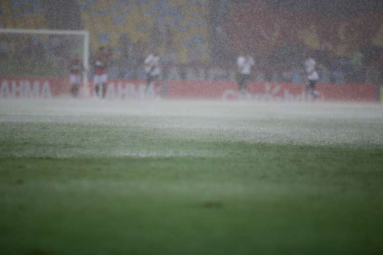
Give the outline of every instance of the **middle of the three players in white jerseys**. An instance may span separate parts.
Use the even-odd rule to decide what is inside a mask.
[[[251,68],[254,66],[254,59],[248,54],[243,53],[244,52],[241,52],[237,59],[237,83],[240,94],[247,93],[247,84],[251,79]]]

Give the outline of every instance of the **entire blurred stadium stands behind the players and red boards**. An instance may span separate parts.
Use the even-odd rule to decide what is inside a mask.
[[[254,81],[302,83],[305,53],[320,82],[383,79],[378,0],[1,0],[0,28],[87,30],[91,61],[99,46],[112,57],[110,78],[143,79],[158,48],[164,79],[234,81],[241,49]],[[0,75],[63,77],[81,40],[0,33]]]

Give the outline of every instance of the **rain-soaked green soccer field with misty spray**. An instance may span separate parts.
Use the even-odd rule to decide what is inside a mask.
[[[1,99],[0,254],[383,254],[383,105]]]

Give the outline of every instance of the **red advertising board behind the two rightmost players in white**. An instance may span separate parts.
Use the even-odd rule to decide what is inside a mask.
[[[318,84],[316,89],[321,100],[377,100],[375,85]],[[237,98],[237,92],[235,82],[170,81],[168,84],[170,98],[233,99]],[[255,100],[302,101],[307,99],[304,84],[257,82],[248,85],[248,92],[248,97]]]

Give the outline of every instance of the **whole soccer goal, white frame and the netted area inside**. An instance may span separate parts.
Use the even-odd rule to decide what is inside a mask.
[[[84,65],[80,90],[87,96],[87,31],[0,29],[0,98],[68,94],[74,59]]]

